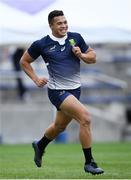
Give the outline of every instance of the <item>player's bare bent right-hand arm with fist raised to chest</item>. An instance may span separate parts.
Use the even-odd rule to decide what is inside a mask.
[[[96,53],[92,48],[88,48],[88,50],[85,53],[82,53],[78,46],[77,47],[74,46],[72,47],[72,51],[78,58],[83,60],[85,63],[87,64],[96,63]]]

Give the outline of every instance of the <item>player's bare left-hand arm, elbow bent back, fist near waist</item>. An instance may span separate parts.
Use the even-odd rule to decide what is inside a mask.
[[[31,63],[33,61],[34,60],[32,59],[32,57],[26,51],[20,59],[20,66],[38,87],[43,87],[45,84],[47,84],[48,80],[45,77],[39,78],[36,75],[34,69],[31,66]]]

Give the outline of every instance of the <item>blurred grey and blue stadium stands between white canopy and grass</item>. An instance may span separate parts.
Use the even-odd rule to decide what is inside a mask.
[[[128,73],[131,69],[131,44],[95,44],[92,46],[97,53],[97,63],[87,66],[84,63],[81,64],[83,85],[81,101],[87,104],[93,116],[94,140],[129,140],[131,139],[131,130],[128,129],[127,133],[125,112],[127,108],[131,107],[131,74]],[[47,98],[46,88],[35,87],[24,73],[16,74],[11,65],[2,66],[2,62],[0,64],[0,134],[2,134],[3,142],[30,142],[34,138],[33,134],[35,137],[40,136],[40,132],[53,117],[53,107]],[[36,62],[34,67],[39,75],[47,76],[47,70],[43,69],[43,62]],[[29,90],[30,98],[25,99],[24,102],[17,100],[16,76],[21,76],[24,79]],[[112,111],[110,111],[111,107],[113,107]],[[32,113],[33,116],[30,115]],[[39,114],[41,115],[39,116]],[[33,131],[37,117],[41,126]],[[21,123],[20,127],[17,122]],[[19,128],[25,127],[26,122],[27,128],[24,133],[26,136],[22,137],[22,130]],[[10,127],[7,128],[10,123]],[[14,128],[13,124],[17,128]],[[18,132],[15,132],[16,129]],[[30,129],[29,132],[28,129]],[[67,129],[70,142],[78,141],[77,130],[77,124],[72,122]],[[14,138],[16,133],[17,138]]]

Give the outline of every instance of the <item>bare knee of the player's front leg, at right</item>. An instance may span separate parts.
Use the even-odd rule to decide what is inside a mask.
[[[83,127],[88,127],[91,124],[91,115],[87,110],[84,110],[80,116],[80,125]]]

